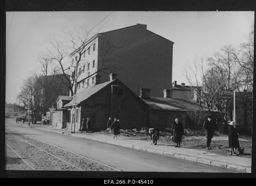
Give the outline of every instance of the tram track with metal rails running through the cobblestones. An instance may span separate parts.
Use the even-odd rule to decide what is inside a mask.
[[[121,171],[19,131],[5,132],[6,145],[32,170]]]

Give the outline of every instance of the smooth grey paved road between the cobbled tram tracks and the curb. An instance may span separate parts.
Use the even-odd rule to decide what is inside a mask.
[[[68,151],[83,155],[89,159],[95,160],[102,164],[108,165],[121,171],[132,172],[234,172],[218,167],[207,166],[196,162],[180,160],[155,153],[146,153],[144,151],[134,150],[121,146],[100,143],[92,140],[82,138],[74,138],[56,134],[52,132],[36,130],[33,128],[22,127],[14,124],[13,119],[7,118],[5,120],[5,127],[7,131],[15,130],[31,136],[33,138],[42,140],[52,145],[57,145]],[[6,133],[7,134],[7,133]],[[6,135],[7,136],[7,135]],[[7,138],[7,137],[6,137]],[[14,146],[15,147],[15,146]],[[34,147],[30,147],[28,153],[35,151]],[[14,149],[15,150],[15,149]],[[6,148],[6,157],[8,160],[6,167],[10,166],[10,157],[13,153],[9,148]],[[72,161],[72,159],[70,160]],[[12,162],[13,163],[13,162]],[[17,162],[16,162],[17,163]],[[18,162],[19,163],[19,162]],[[22,165],[24,167],[24,165]],[[52,167],[52,166],[50,166]],[[26,169],[25,169],[26,170]],[[45,169],[51,170],[51,169]],[[56,169],[52,169],[56,170]]]

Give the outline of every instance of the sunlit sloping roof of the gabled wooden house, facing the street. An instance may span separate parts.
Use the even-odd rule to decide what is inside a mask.
[[[110,83],[112,83],[115,80],[116,79],[114,79],[112,81],[107,81],[105,83],[101,83],[99,85],[88,86],[88,87],[82,89],[76,95],[76,104],[74,103],[74,106],[80,104],[82,101],[86,100],[87,98],[89,98],[93,94],[97,93],[102,88],[104,88],[105,86],[109,85]],[[72,97],[70,102],[68,102],[66,105],[64,105],[64,107],[70,107],[72,105],[73,105],[73,97]]]

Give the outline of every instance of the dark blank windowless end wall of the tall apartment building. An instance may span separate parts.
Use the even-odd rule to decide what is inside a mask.
[[[146,25],[139,24],[102,33],[98,41],[98,59],[104,57],[106,48],[113,46],[108,53],[118,51],[104,59],[104,66],[114,65],[116,69],[107,71],[108,74],[116,73],[117,77],[137,95],[140,95],[140,88],[143,87],[151,89],[151,96],[162,97],[164,89],[172,88],[173,42],[157,36],[146,28]],[[98,65],[101,64],[102,61],[99,61]],[[109,80],[108,74],[99,74],[101,82]]]

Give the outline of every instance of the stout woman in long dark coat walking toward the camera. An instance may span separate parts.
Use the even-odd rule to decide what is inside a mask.
[[[175,122],[172,123],[172,131],[171,131],[171,136],[173,136],[173,142],[176,143],[175,147],[180,148],[182,135],[184,135],[183,124],[179,122],[178,118],[175,118]]]

